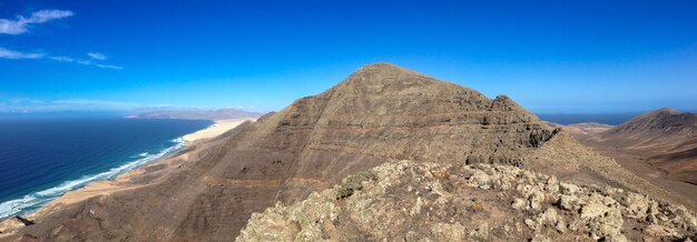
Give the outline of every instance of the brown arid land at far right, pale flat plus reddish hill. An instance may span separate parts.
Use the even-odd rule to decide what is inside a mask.
[[[559,125],[624,168],[697,202],[697,114],[659,109],[621,125]]]

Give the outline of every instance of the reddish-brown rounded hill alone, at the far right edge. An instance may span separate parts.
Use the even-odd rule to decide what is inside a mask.
[[[652,177],[690,183],[697,193],[697,114],[659,109],[621,125],[585,138],[585,143],[608,155],[625,157],[628,163],[646,164]],[[641,167],[639,167],[641,168]],[[677,184],[684,186],[683,184]],[[666,186],[675,188],[673,184]],[[695,199],[697,200],[697,199]]]

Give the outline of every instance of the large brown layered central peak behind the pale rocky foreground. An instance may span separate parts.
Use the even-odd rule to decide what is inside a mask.
[[[6,233],[48,240],[228,241],[254,212],[276,202],[292,204],[348,174],[400,160],[514,165],[695,208],[548,127],[505,95],[492,100],[376,63],[176,157],[70,192],[28,216],[36,224]]]

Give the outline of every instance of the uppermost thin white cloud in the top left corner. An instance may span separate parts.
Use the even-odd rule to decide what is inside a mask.
[[[41,10],[31,13],[29,18],[18,16],[16,20],[0,19],[0,33],[21,34],[28,32],[31,24],[43,23],[71,16],[72,11],[67,10]]]

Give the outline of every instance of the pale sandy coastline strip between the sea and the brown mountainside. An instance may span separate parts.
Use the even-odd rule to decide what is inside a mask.
[[[197,151],[197,145],[199,143],[205,142],[208,139],[218,137],[244,123],[245,121],[255,120],[256,119],[253,118],[213,120],[214,123],[212,125],[203,130],[198,130],[194,133],[185,134],[180,138],[175,139],[176,141],[178,141],[175,145],[163,150],[158,154],[155,154],[153,157],[144,157],[141,159],[130,161],[107,172],[89,177],[86,175],[86,178],[81,180],[67,181],[60,186],[49,189],[58,190],[59,188],[65,189],[62,186],[68,186],[67,192],[53,198],[48,202],[32,203],[31,205],[26,205],[21,208],[20,211],[14,211],[13,213],[17,214],[17,212],[20,212],[17,215],[26,218],[29,221],[33,221],[41,214],[53,210],[55,208],[68,205],[97,195],[106,195],[141,186],[144,184],[136,184],[131,182],[130,179],[137,177],[137,174],[146,172],[145,169],[147,169],[147,167],[156,165],[161,162],[171,163],[173,160],[175,160],[174,158],[177,158],[176,160],[178,160],[179,162],[188,161],[190,153]],[[37,193],[46,193],[49,190],[40,191]],[[19,205],[21,206],[22,202],[29,202],[27,201],[27,196],[24,199],[12,200],[8,202],[19,203]],[[33,205],[40,205],[40,208],[33,211],[27,211],[24,214],[21,213],[21,210]],[[22,226],[24,226],[24,224],[17,220],[16,215],[0,219],[0,239],[12,234],[12,232]]]

